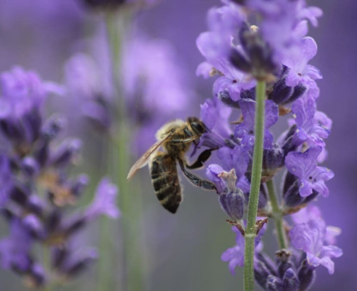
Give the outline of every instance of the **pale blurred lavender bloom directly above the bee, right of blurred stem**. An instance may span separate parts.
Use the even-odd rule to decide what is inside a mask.
[[[154,143],[156,129],[172,120],[194,97],[174,48],[165,40],[134,37],[124,48],[122,81],[129,117],[137,125],[137,152]],[[134,137],[136,140],[137,138]],[[133,148],[135,148],[133,144]]]

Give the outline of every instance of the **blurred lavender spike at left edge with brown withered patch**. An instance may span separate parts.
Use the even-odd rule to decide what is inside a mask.
[[[44,270],[32,253],[32,243],[56,251],[86,224],[100,215],[119,216],[115,205],[116,186],[105,178],[98,186],[96,198],[85,211],[65,212],[74,204],[88,183],[86,175],[70,177],[71,163],[81,141],[67,138],[54,147],[64,118],[53,115],[44,120],[48,93],[61,92],[60,86],[43,82],[34,72],[20,67],[4,72],[1,78],[0,132],[1,149],[1,213],[10,224],[10,235],[0,241],[2,267],[24,276],[27,284],[39,288],[46,283],[49,272]],[[51,261],[55,271],[72,277],[94,258],[93,251],[75,260],[72,250],[63,268]],[[75,261],[73,261],[75,260]]]

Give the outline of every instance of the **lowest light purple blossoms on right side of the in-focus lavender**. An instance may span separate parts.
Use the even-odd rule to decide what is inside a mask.
[[[322,217],[318,216],[314,207],[312,207],[312,214],[311,216],[308,215],[308,219],[306,215],[304,216],[306,222],[295,224],[289,232],[291,243],[295,248],[306,252],[306,259],[309,265],[314,267],[323,265],[327,268],[329,274],[333,274],[335,264],[331,258],[342,256],[342,250],[334,245],[324,245],[326,224]],[[301,214],[299,213],[294,214],[293,219],[294,217],[298,217],[297,221],[301,220]]]

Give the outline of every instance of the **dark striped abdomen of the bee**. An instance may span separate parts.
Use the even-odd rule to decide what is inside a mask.
[[[157,199],[165,209],[175,213],[182,201],[176,159],[163,152],[157,153],[150,163],[150,174]]]

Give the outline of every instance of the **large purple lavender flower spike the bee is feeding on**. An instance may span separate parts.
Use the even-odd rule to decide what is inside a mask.
[[[245,240],[240,222],[244,205],[240,193],[244,193],[247,203],[258,80],[266,83],[268,99],[258,213],[279,219],[279,215],[300,212],[293,214],[295,224],[288,239],[284,234],[287,222],[280,219],[277,233],[281,249],[276,252],[275,262],[261,253],[261,248],[256,249],[255,279],[265,290],[307,290],[315,279],[316,267],[324,265],[332,274],[331,258],[342,255],[342,250],[333,245],[338,229],[326,227],[321,214],[312,217],[316,211],[307,206],[319,194],[328,196],[325,182],[334,176],[331,170],[318,166],[326,158],[324,139],[330,134],[332,121],[316,110],[320,90],[315,80],[322,75],[308,64],[317,45],[306,36],[307,22],[316,26],[322,11],[308,7],[305,0],[222,2],[222,7],[208,11],[209,31],[201,33],[196,42],[206,58],[197,67],[197,75],[219,76],[213,84],[213,99],[201,105],[201,119],[211,132],[202,136],[196,148],[219,148],[216,152],[220,164],[208,165],[206,175],[215,183],[221,207],[233,219],[230,223],[236,225],[233,229],[239,236],[237,246],[223,253],[222,260],[230,262],[231,271],[237,265],[243,266]],[[235,110],[240,113],[232,122]],[[287,114],[293,119],[288,119],[289,128],[275,141],[269,129]],[[269,197],[275,196],[272,180],[284,168],[280,199],[275,198],[281,203],[268,201],[267,190]],[[302,209],[306,206],[310,214]],[[311,219],[298,222],[299,215]]]

